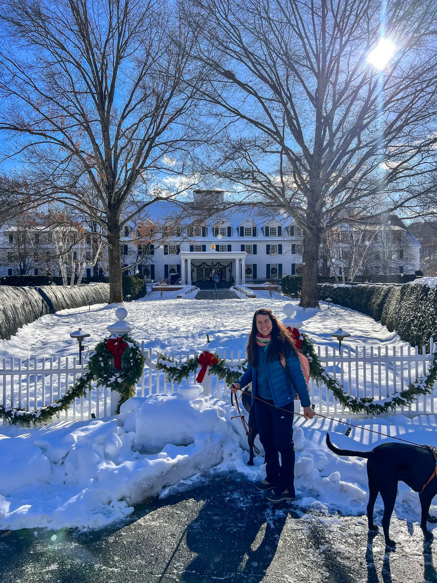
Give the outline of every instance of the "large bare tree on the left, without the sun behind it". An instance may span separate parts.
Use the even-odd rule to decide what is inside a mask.
[[[184,173],[199,139],[203,73],[188,66],[193,40],[177,12],[165,0],[6,0],[0,12],[0,129],[44,200],[101,224],[111,302],[123,300],[126,205],[139,213],[169,198],[160,176]]]

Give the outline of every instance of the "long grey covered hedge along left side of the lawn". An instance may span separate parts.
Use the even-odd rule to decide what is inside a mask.
[[[0,286],[0,338],[9,340],[24,324],[30,324],[45,314],[80,308],[90,300],[93,304],[108,303],[109,284],[73,287]]]

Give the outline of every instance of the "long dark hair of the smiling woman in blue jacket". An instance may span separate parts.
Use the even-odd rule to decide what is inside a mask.
[[[269,360],[277,360],[280,354],[288,356],[291,350],[295,350],[295,340],[292,333],[273,315],[272,310],[260,308],[253,314],[252,330],[249,334],[249,342],[247,345],[248,360],[251,367],[256,367],[258,364],[258,345],[256,344],[258,328],[256,328],[256,317],[259,314],[269,316],[272,321],[272,340],[270,340],[269,346]]]

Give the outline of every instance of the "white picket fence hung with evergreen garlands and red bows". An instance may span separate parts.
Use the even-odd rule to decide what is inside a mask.
[[[425,346],[422,347],[422,354],[419,353],[417,346],[414,348],[408,346],[407,350],[395,346],[355,346],[354,349],[342,347],[341,354],[332,347],[318,346],[318,356],[320,363],[340,381],[349,395],[371,396],[380,400],[396,391],[402,391],[410,382],[426,374],[429,363],[434,360],[435,345],[432,338],[429,346],[429,352]],[[158,352],[153,353],[152,349],[145,348],[144,342],[142,352],[146,357],[146,364],[138,382],[137,395],[174,393],[177,385],[168,380],[164,371],[156,368]],[[182,362],[196,354],[198,353],[193,351],[171,352],[165,353],[165,357]],[[225,359],[227,366],[235,368],[240,367],[244,360],[244,354],[240,351],[237,354],[222,352],[220,356]],[[3,359],[0,368],[2,405],[29,411],[56,401],[86,370],[84,368],[86,361],[82,360],[82,363],[79,363],[78,360],[76,357],[55,360],[31,357],[23,361]],[[196,374],[192,374],[193,379]],[[228,387],[224,380],[220,380],[216,375],[206,374],[202,386],[204,395],[227,398]],[[310,380],[309,393],[316,412],[334,417],[354,416],[344,410],[324,384]],[[433,391],[431,395],[420,396],[412,405],[402,406],[393,413],[406,415],[434,413],[434,398]],[[298,402],[296,405],[299,406]],[[100,419],[108,415],[110,415],[110,391],[93,384],[86,398],[76,399],[71,409],[59,413],[57,418],[62,421],[91,417]]]

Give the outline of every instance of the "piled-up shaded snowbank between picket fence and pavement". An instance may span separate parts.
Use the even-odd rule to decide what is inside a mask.
[[[184,391],[182,391],[184,392]],[[146,498],[186,489],[201,472],[236,469],[265,476],[262,455],[248,466],[246,437],[229,398],[185,395],[132,398],[117,417],[34,429],[2,428],[0,529],[102,528],[125,519]],[[354,423],[418,443],[437,445],[434,417],[401,416]],[[316,419],[295,422],[296,504],[342,514],[364,514],[368,485],[361,458],[340,458],[326,448],[326,431],[340,447],[365,451],[382,437]],[[375,440],[375,437],[378,439]],[[260,447],[259,441],[257,444]],[[262,448],[261,448],[262,452]],[[420,519],[417,493],[399,485],[396,513]],[[380,503],[376,505],[376,510]],[[434,512],[434,508],[432,512]]]

